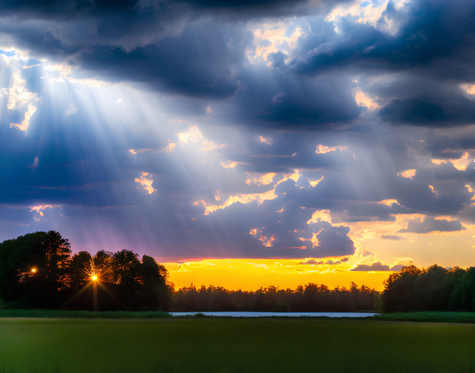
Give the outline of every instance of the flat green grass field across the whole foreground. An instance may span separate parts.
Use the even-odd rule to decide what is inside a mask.
[[[0,372],[473,372],[475,325],[0,319]]]

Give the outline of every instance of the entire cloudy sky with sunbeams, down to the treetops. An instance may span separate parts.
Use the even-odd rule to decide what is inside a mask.
[[[0,241],[177,288],[474,265],[474,44],[468,0],[2,1]]]

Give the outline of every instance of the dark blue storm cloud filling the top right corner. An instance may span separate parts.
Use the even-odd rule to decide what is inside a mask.
[[[389,3],[383,17],[399,20],[391,7]],[[344,38],[333,41],[331,33],[315,36],[315,44],[330,44],[315,50],[297,66],[302,73],[309,74],[345,65],[359,73],[365,69],[418,68],[418,73],[433,78],[473,80],[474,9],[472,2],[463,0],[414,2],[407,13],[400,15],[407,22],[394,37],[370,25],[355,23],[353,17],[347,16],[340,26]]]

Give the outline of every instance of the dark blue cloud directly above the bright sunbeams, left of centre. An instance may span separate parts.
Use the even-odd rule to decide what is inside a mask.
[[[230,70],[241,67],[243,47],[227,48],[232,32],[190,26],[178,38],[125,52],[109,47],[82,54],[82,64],[110,80],[147,82],[190,96],[228,97],[242,88]],[[197,61],[198,57],[198,61]]]

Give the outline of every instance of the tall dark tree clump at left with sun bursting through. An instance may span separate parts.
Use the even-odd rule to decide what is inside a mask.
[[[8,308],[167,310],[174,285],[151,256],[72,254],[55,231],[0,243],[0,301]]]

